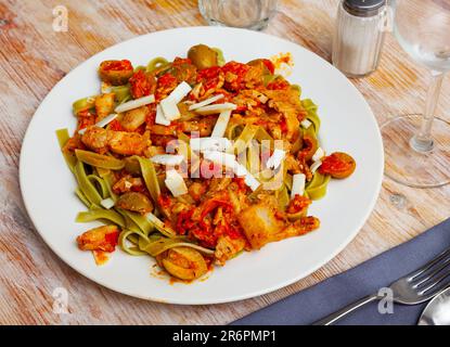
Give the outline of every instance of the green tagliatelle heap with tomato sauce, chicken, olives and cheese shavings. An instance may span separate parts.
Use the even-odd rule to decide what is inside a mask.
[[[100,64],[101,92],[74,102],[56,131],[76,196],[77,237],[104,264],[116,245],[192,281],[244,250],[319,228],[308,215],[348,154],[320,146],[318,106],[268,59],[226,62],[205,44],[187,57]]]

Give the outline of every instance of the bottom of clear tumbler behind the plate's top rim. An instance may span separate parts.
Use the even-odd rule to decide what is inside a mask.
[[[198,0],[209,25],[262,30],[277,11],[277,0]]]

